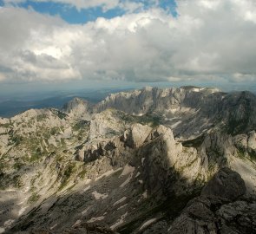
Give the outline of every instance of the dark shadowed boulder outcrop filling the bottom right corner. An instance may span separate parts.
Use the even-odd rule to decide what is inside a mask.
[[[246,193],[240,174],[222,168],[174,220],[168,233],[254,233],[256,203],[238,200]],[[237,200],[237,201],[235,201]],[[235,220],[239,218],[240,222]],[[249,225],[249,226],[247,226]]]

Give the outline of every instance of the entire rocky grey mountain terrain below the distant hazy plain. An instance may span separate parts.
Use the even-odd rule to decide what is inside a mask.
[[[148,87],[0,118],[0,233],[256,233],[255,116]]]

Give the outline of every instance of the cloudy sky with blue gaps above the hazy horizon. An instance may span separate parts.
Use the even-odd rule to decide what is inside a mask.
[[[255,88],[254,0],[0,0],[0,92]]]

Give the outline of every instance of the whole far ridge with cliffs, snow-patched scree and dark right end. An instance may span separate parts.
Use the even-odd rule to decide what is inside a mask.
[[[143,88],[110,94],[94,107],[98,113],[115,108],[128,114],[161,115],[161,123],[180,138],[199,136],[212,127],[238,134],[255,129],[256,97],[250,92],[226,94],[216,88]]]

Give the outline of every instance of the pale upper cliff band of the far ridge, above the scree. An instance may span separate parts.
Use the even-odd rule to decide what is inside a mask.
[[[190,103],[194,108],[200,105],[202,96],[218,92],[211,88],[152,88],[146,87],[131,92],[110,94],[104,101],[95,106],[99,112],[109,107],[122,110],[129,114],[146,114],[148,111],[162,112],[162,114],[174,114],[182,112],[182,104]],[[190,100],[190,101],[189,101]]]

